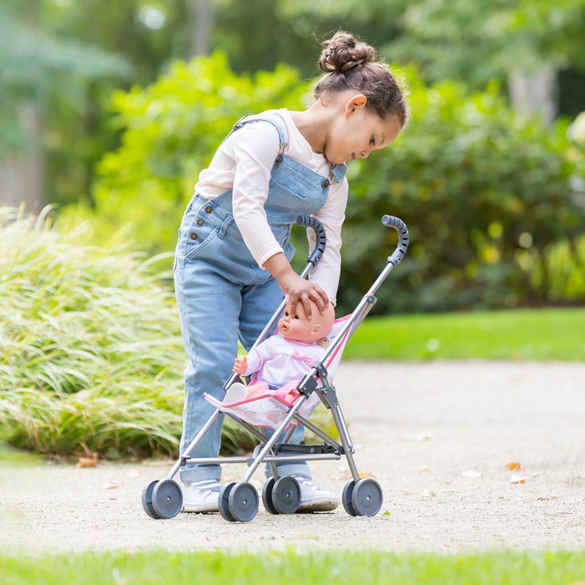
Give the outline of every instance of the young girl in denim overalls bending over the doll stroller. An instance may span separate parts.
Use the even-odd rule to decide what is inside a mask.
[[[238,353],[256,341],[283,294],[294,314],[299,302],[311,319],[335,306],[341,226],[347,203],[346,164],[388,146],[407,121],[407,105],[394,75],[376,50],[338,32],[322,45],[324,75],[305,111],[269,110],[242,118],[201,171],[179,230],[174,281],[181,333],[190,364],[185,369],[181,453],[211,417],[203,393],[222,400],[222,386]],[[292,270],[288,242],[298,215],[313,215],[327,246],[309,280]],[[312,231],[309,245],[314,247]],[[222,418],[192,457],[218,457]],[[304,428],[293,436],[300,442]],[[311,480],[306,463],[282,463],[281,476],[301,486],[298,511],[333,510],[335,495]],[[185,466],[183,511],[218,510],[218,465]],[[270,477],[270,469],[267,469]]]

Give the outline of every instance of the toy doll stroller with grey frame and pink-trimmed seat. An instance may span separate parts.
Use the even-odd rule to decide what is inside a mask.
[[[321,260],[326,244],[325,229],[315,218],[307,216],[299,216],[297,223],[314,229],[317,239],[315,249],[308,257],[307,266],[301,273],[304,278],[311,267]],[[328,335],[328,345],[324,344],[321,358],[313,364],[307,376],[296,384],[295,388],[292,388],[296,392],[291,393],[291,384],[285,384],[281,390],[264,395],[256,393],[245,400],[232,404],[223,404],[223,402],[205,394],[205,399],[216,407],[214,414],[197,433],[185,452],[180,455],[167,479],[151,481],[142,492],[144,511],[151,518],[174,518],[180,512],[181,507],[183,507],[183,493],[173,477],[185,465],[203,463],[247,463],[249,466],[242,481],[225,484],[219,493],[219,512],[226,520],[249,522],[256,516],[259,496],[256,488],[250,483],[250,478],[261,463],[269,463],[272,472],[272,477],[266,481],[262,490],[264,507],[271,514],[292,514],[297,511],[300,505],[301,489],[294,477],[280,477],[278,475],[276,462],[339,460],[342,455],[345,455],[352,473],[352,480],[346,484],[342,493],[342,504],[347,514],[374,516],[380,511],[383,499],[380,484],[371,478],[360,479],[357,473],[353,460],[355,448],[349,436],[335,387],[331,381],[347,341],[377,301],[374,293],[390,274],[390,271],[400,263],[408,248],[408,229],[401,219],[384,215],[382,223],[397,230],[398,245],[396,249],[388,257],[386,267],[353,313],[336,319],[333,329]],[[253,347],[259,345],[274,331],[274,325],[283,312],[285,304],[286,301],[283,300]],[[239,379],[238,374],[233,374],[223,385],[223,389],[227,392],[229,387]],[[309,422],[308,418],[319,402],[322,402],[331,412],[340,442],[335,441],[318,426]],[[191,457],[192,449],[214,425],[222,412],[259,439],[260,444],[254,449],[253,455],[251,457]],[[290,443],[295,427],[300,424],[323,439],[324,443],[319,445]],[[275,429],[270,438],[264,430],[266,427]],[[277,442],[284,432],[286,432],[284,441]]]

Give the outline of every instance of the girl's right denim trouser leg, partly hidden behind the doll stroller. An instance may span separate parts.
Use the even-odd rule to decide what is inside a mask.
[[[264,284],[244,287],[242,291],[242,312],[240,313],[240,341],[245,349],[252,347],[264,326],[283,300],[284,294],[278,283],[270,277]],[[266,429],[271,435],[271,429]],[[291,442],[300,443],[305,436],[304,426],[298,426]],[[279,440],[284,440],[283,436]],[[311,479],[311,470],[304,462],[280,463],[278,473],[283,476],[295,475]],[[270,467],[267,467],[267,477],[270,477]]]

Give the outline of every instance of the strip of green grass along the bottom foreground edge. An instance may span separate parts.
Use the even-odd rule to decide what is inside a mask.
[[[318,583],[359,585],[570,585],[585,579],[585,551],[432,555],[292,550],[267,555],[222,552],[84,553],[0,556],[4,585],[67,583]]]

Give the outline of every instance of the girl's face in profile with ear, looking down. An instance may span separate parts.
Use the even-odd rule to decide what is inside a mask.
[[[367,159],[372,150],[394,142],[402,128],[400,118],[392,116],[384,122],[376,113],[366,109],[363,94],[343,92],[330,104],[339,115],[333,118],[325,137],[325,156],[332,163],[347,163]]]

